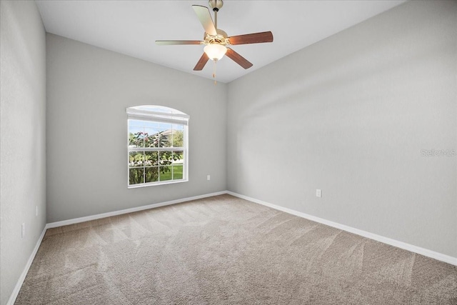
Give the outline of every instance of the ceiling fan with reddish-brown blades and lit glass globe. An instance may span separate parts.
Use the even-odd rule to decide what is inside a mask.
[[[233,49],[227,47],[228,45],[236,44],[258,44],[262,42],[272,42],[273,34],[271,31],[265,31],[261,33],[245,34],[238,36],[228,36],[225,31],[217,28],[217,13],[219,9],[224,5],[222,0],[209,0],[209,6],[214,11],[214,22],[211,18],[211,13],[206,6],[193,5],[197,17],[199,18],[201,25],[205,29],[204,40],[156,40],[156,44],[161,46],[167,45],[179,45],[179,44],[204,44],[204,54],[201,56],[194,71],[201,71],[206,62],[212,59],[214,62],[219,61],[224,55],[227,55],[230,59],[239,64],[244,69],[251,68],[252,64],[240,54],[233,51]],[[213,74],[215,77],[215,74]]]

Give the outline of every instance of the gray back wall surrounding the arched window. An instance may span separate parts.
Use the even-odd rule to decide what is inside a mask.
[[[46,34],[48,222],[226,189],[226,85]],[[189,182],[127,189],[126,107],[189,121]],[[211,174],[211,181],[206,175]]]

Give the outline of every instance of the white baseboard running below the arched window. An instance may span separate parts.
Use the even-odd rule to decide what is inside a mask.
[[[102,218],[111,217],[111,216],[118,216],[118,215],[133,213],[133,212],[137,212],[137,211],[154,209],[154,208],[158,208],[160,206],[169,206],[171,204],[180,204],[181,202],[185,202],[185,201],[203,199],[206,197],[218,196],[218,195],[222,195],[222,194],[227,194],[227,191],[217,191],[216,193],[192,196],[192,197],[176,199],[176,200],[171,200],[171,201],[164,201],[164,202],[160,202],[158,204],[149,204],[147,206],[137,206],[135,208],[130,208],[130,209],[112,211],[112,212],[107,212],[107,213],[102,213],[102,214],[91,215],[91,216],[84,216],[84,217],[79,217],[79,218],[74,218],[74,219],[63,220],[63,221],[50,222],[49,224],[46,224],[46,229],[56,228],[58,226],[68,226],[69,224],[79,224],[80,222],[84,222],[84,221],[91,221],[91,220],[102,219]]]

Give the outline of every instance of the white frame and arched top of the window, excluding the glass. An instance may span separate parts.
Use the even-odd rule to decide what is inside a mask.
[[[151,110],[154,109],[154,110]],[[160,111],[157,111],[159,109]],[[126,109],[127,113],[127,187],[135,189],[145,186],[157,186],[164,184],[176,184],[189,181],[189,119],[188,114],[184,114],[176,109],[159,105],[142,105]],[[149,121],[154,123],[178,124],[184,127],[183,147],[129,147],[129,126],[131,120]],[[177,180],[143,182],[141,184],[130,184],[130,152],[131,151],[183,151],[183,178]]]

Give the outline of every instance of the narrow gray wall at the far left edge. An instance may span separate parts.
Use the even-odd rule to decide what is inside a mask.
[[[6,304],[46,224],[46,39],[35,2],[0,1],[0,36],[0,304]]]

